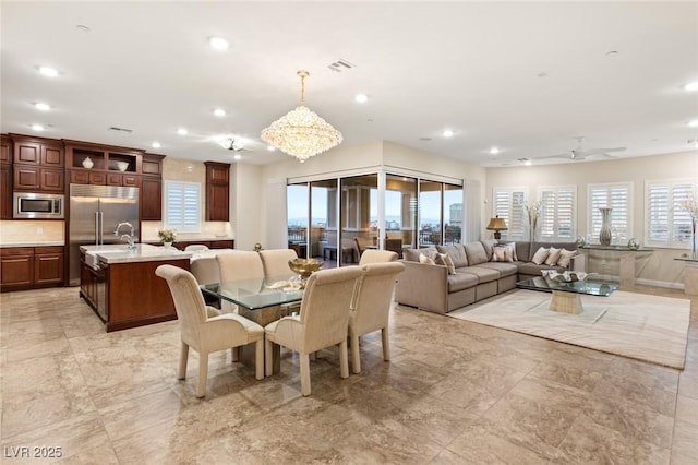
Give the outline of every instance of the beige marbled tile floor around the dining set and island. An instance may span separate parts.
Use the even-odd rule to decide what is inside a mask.
[[[389,363],[378,333],[347,380],[324,350],[302,397],[291,353],[255,381],[222,351],[204,400],[177,322],[107,334],[75,288],[0,299],[3,464],[698,463],[698,298],[684,371],[397,307]]]

